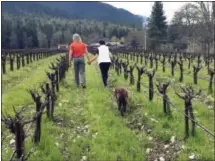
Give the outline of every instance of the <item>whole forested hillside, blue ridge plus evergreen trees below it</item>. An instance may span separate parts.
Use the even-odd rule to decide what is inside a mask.
[[[100,38],[122,39],[138,24],[134,21],[140,19],[127,11],[98,2],[68,4],[70,5],[67,2],[3,2],[2,48],[53,47],[59,43],[69,43],[75,32],[80,33],[87,43]],[[115,14],[118,16],[114,16]],[[114,21],[116,23],[112,23]],[[123,22],[131,23],[133,27],[121,25]]]

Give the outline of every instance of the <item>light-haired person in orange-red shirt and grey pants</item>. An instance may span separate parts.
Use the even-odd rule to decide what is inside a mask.
[[[74,60],[75,83],[77,87],[81,83],[82,88],[86,88],[84,55],[89,61],[87,45],[82,42],[79,34],[74,34],[73,42],[69,46],[69,64],[71,66],[71,62]]]

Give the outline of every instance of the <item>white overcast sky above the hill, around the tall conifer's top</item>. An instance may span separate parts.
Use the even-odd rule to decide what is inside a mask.
[[[103,2],[108,3],[117,8],[123,8],[131,13],[147,16],[151,14],[152,6],[154,2]],[[170,22],[174,12],[180,9],[184,4],[188,2],[163,2],[164,13],[167,17],[167,21]]]

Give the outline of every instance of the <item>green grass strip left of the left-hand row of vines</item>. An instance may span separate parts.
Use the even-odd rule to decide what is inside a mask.
[[[32,63],[22,70],[11,72],[2,77],[2,110],[11,112],[12,106],[32,104],[33,100],[28,89],[36,89],[41,83],[47,81],[45,71],[49,70],[50,62],[56,60],[59,55]]]

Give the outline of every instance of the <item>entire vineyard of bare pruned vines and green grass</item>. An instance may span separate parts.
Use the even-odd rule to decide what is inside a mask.
[[[108,88],[92,64],[79,89],[65,51],[3,51],[2,159],[212,161],[214,74],[214,55],[116,49]]]

